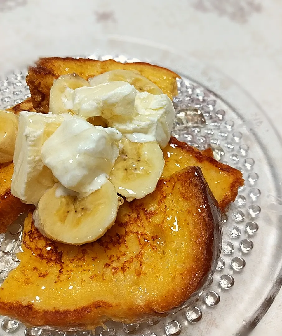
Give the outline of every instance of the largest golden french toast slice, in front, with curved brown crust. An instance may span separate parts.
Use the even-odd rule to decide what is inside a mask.
[[[0,313],[61,330],[162,316],[202,287],[220,250],[221,239],[213,249],[219,220],[198,167],[161,178],[152,194],[124,202],[115,225],[93,243],[50,241],[30,213],[21,262],[0,288]]]

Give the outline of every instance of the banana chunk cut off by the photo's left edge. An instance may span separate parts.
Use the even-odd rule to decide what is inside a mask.
[[[0,164],[13,161],[18,129],[18,116],[0,110]]]

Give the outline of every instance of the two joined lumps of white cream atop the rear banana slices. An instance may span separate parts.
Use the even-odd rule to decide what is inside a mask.
[[[116,81],[66,88],[62,99],[66,109],[84,118],[102,116],[132,142],[157,141],[164,148],[170,139],[175,110],[166,94],[138,92]]]

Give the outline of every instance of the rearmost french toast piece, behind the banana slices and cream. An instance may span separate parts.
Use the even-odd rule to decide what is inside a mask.
[[[156,84],[171,99],[177,94],[176,78],[179,75],[171,70],[149,63],[119,63],[113,59],[99,61],[89,58],[40,58],[35,67],[29,67],[27,84],[30,88],[33,107],[38,112],[49,112],[50,89],[54,79],[61,75],[76,73],[88,79],[104,72],[123,69],[139,72]]]

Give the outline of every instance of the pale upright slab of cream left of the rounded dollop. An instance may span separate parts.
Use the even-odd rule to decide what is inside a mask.
[[[71,118],[70,114],[20,112],[13,157],[13,196],[24,203],[37,205],[43,194],[54,185],[52,172],[42,162],[41,147],[64,120]]]

